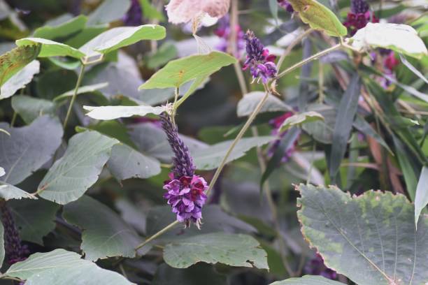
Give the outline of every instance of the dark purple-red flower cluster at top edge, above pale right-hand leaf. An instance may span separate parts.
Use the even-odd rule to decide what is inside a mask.
[[[343,23],[351,35],[359,29],[366,27],[369,22],[377,23],[378,18],[369,10],[369,4],[365,0],[351,0],[350,12]]]

